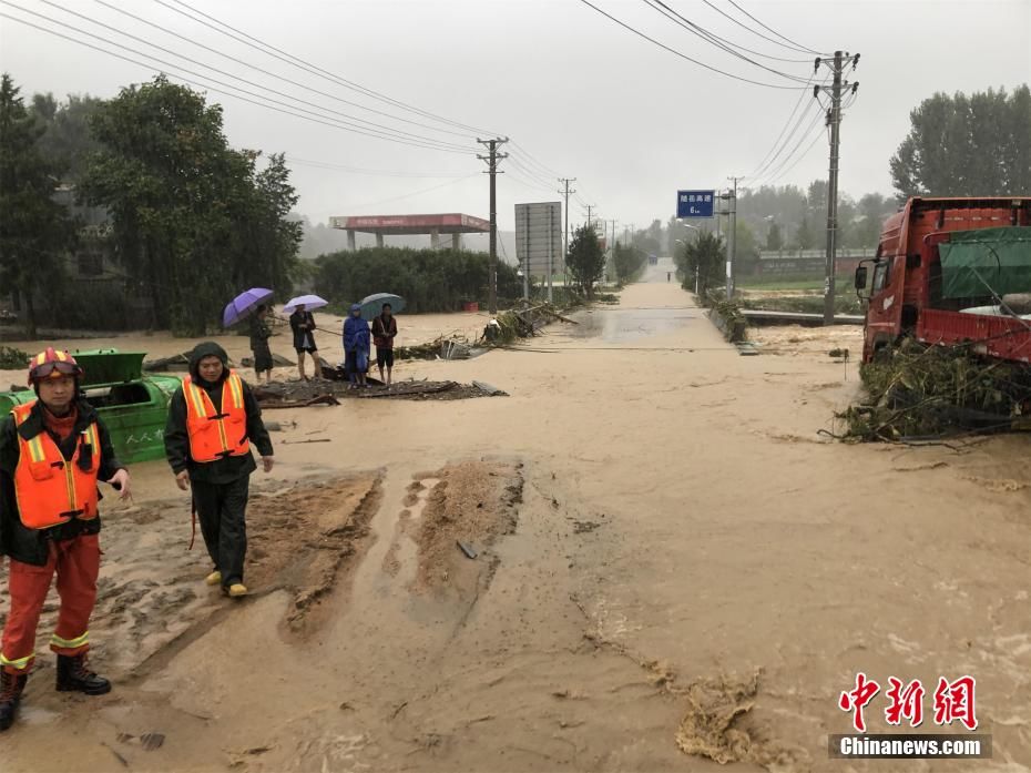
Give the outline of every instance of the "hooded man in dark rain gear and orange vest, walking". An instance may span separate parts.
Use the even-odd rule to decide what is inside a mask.
[[[165,454],[175,482],[193,487],[193,506],[214,569],[205,582],[231,597],[247,594],[245,515],[257,446],[266,472],[272,471],[272,440],[262,409],[244,380],[228,368],[218,344],[197,344],[190,376],[172,396],[165,428]]]

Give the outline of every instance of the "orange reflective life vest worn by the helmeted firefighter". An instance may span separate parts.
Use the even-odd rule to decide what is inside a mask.
[[[11,414],[21,427],[38,400],[16,406]],[[96,474],[100,470],[100,433],[92,423],[79,434],[75,452],[64,459],[48,431],[25,440],[18,433],[14,495],[21,522],[30,529],[49,529],[72,518],[96,518]],[[80,465],[80,460],[82,464]]]

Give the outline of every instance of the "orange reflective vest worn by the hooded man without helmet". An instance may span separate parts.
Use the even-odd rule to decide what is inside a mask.
[[[207,393],[187,376],[183,379],[186,398],[186,433],[190,435],[190,457],[207,464],[227,456],[251,452],[247,438],[247,411],[244,408],[244,383],[229,370],[222,385],[222,413]]]

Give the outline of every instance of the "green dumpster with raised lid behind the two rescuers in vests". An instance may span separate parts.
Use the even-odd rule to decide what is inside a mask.
[[[176,376],[143,374],[145,352],[73,352],[85,372],[82,391],[111,433],[119,459],[126,464],[164,458],[169,400],[182,382]],[[0,391],[0,416],[35,393]]]

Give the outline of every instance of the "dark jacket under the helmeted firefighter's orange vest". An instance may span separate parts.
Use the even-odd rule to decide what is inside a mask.
[[[115,472],[124,469],[114,455],[111,446],[111,435],[104,423],[100,420],[96,410],[84,399],[76,404],[79,416],[71,436],[64,443],[58,443],[65,459],[71,459],[75,452],[75,443],[79,436],[96,421],[100,436],[100,470],[98,480],[110,480]],[[29,529],[21,522],[18,515],[18,499],[14,496],[14,470],[18,467],[18,457],[21,449],[18,444],[18,434],[25,439],[35,437],[40,433],[49,433],[43,421],[42,404],[37,401],[29,414],[29,418],[21,427],[14,426],[14,417],[8,415],[0,421],[0,555],[10,556],[16,561],[41,567],[47,563],[50,556],[50,542],[72,539],[80,535],[95,535],[100,531],[100,516],[89,520],[73,518],[68,523],[61,523],[50,529]],[[54,437],[51,434],[51,437]],[[54,441],[58,438],[54,437]]]

